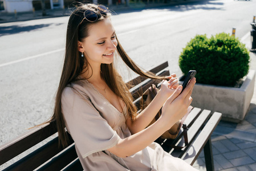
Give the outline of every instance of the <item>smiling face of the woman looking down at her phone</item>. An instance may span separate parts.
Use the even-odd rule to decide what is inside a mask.
[[[78,50],[84,52],[91,65],[112,63],[116,46],[115,29],[109,18],[91,25],[87,38],[78,42]]]

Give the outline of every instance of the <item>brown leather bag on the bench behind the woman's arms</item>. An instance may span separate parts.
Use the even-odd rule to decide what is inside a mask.
[[[151,101],[154,99],[154,97],[157,95],[157,93],[159,92],[159,89],[156,88],[155,84],[152,84],[151,87],[149,87],[144,93],[143,96],[141,98],[141,109],[145,109],[149,103],[151,103]],[[160,137],[160,139],[176,139],[176,137],[178,136],[178,133],[180,132],[181,127],[183,128],[183,136],[184,136],[184,141],[185,141],[185,146],[188,145],[188,136],[187,136],[187,131],[188,128],[186,127],[186,125],[184,124],[184,121],[186,119],[186,117],[188,116],[189,112],[192,110],[192,106],[189,106],[188,108],[188,112],[186,113],[186,115],[184,117],[182,117],[182,119],[180,119],[179,121],[177,121],[177,123],[175,123],[168,131],[166,131],[165,133],[163,133]],[[157,112],[155,118],[151,121],[151,124],[155,123],[155,121],[157,119],[159,119],[159,117],[161,116],[161,109],[159,112]],[[148,126],[149,126],[148,125]],[[184,146],[172,146],[173,148],[176,149],[181,149]]]

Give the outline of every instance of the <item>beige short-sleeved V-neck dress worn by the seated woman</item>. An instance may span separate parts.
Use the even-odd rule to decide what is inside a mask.
[[[84,170],[195,170],[157,143],[126,158],[110,153],[107,149],[119,139],[131,136],[125,124],[126,113],[113,107],[87,80],[71,87],[63,91],[62,112]]]

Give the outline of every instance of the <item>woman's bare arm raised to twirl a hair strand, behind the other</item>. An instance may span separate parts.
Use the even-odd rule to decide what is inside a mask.
[[[168,82],[165,81],[162,83],[159,93],[157,93],[156,97],[151,101],[147,108],[140,112],[133,121],[127,119],[126,124],[132,134],[142,131],[149,123],[151,123],[156,116],[156,113],[159,112],[168,97],[172,95],[178,87],[176,74],[169,76],[169,79]]]

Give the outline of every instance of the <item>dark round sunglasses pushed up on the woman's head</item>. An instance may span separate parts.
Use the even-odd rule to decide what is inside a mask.
[[[105,7],[104,5],[99,5],[97,6],[97,11],[101,14],[101,15],[107,15],[108,13],[108,8]],[[95,22],[97,20],[97,14],[95,11],[92,10],[86,10],[84,11],[84,18],[89,21],[89,22]],[[82,22],[84,21],[84,19],[82,20]],[[81,23],[82,23],[81,22]]]

